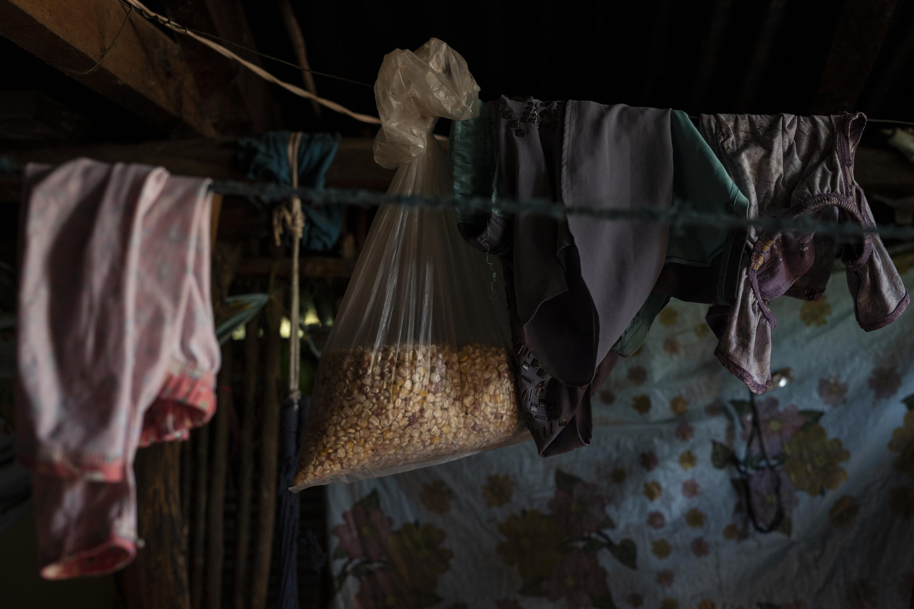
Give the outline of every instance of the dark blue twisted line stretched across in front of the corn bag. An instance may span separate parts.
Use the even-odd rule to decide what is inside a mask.
[[[685,226],[716,226],[720,228],[755,227],[774,233],[800,231],[834,236],[879,235],[900,240],[914,239],[914,226],[860,226],[856,223],[835,223],[802,215],[797,218],[746,218],[730,215],[723,210],[706,212],[683,206],[651,207],[636,206],[628,209],[613,209],[596,205],[564,205],[546,199],[515,201],[511,199],[489,199],[474,197],[461,199],[454,196],[417,196],[407,194],[386,194],[365,190],[344,190],[326,188],[292,188],[276,183],[246,183],[217,180],[210,185],[214,193],[243,196],[262,202],[285,201],[298,196],[303,203],[320,208],[324,205],[345,204],[357,207],[379,205],[404,205],[407,207],[452,208],[461,212],[496,212],[503,214],[546,215],[558,220],[569,215],[589,216],[600,220],[651,222],[668,224],[675,231]]]

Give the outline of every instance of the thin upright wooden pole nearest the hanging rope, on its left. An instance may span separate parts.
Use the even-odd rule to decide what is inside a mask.
[[[280,423],[280,322],[282,289],[271,294],[264,311],[266,318],[264,354],[264,388],[262,427],[260,430],[260,485],[258,490],[257,548],[251,572],[250,607],[264,609],[270,582],[270,559],[273,546],[273,521],[276,519],[276,459]]]

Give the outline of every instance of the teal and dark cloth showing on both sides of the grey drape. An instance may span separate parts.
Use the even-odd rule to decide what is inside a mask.
[[[448,157],[453,167],[454,195],[494,198],[504,191],[498,171],[498,102],[479,102],[479,116],[453,121]],[[521,121],[517,121],[518,125]],[[739,192],[727,170],[685,112],[670,111],[673,145],[673,205],[746,217],[749,200]],[[501,194],[504,194],[503,192]],[[510,260],[514,219],[495,212],[457,211],[457,226],[467,243]],[[745,243],[742,228],[680,226],[670,234],[666,264],[628,327],[611,349],[629,357],[650,331],[654,317],[670,297],[708,304],[730,304]],[[733,249],[736,249],[736,252]]]

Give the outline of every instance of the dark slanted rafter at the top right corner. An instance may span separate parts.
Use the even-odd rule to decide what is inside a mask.
[[[898,0],[845,0],[813,97],[813,114],[855,110],[897,6]]]

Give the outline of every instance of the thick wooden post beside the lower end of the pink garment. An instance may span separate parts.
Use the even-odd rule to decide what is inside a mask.
[[[176,442],[140,448],[136,472],[137,526],[145,547],[118,576],[125,609],[190,609],[179,517]]]

